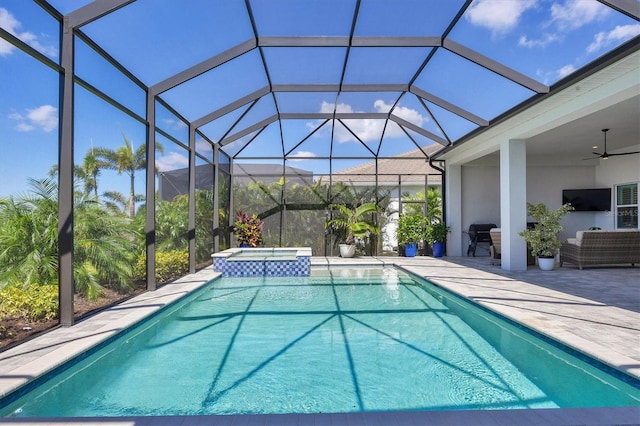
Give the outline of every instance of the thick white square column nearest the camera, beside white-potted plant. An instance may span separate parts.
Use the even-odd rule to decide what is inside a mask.
[[[500,144],[500,228],[502,269],[527,270],[527,147],[524,140]]]

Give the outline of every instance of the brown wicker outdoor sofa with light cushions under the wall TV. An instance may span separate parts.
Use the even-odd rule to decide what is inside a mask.
[[[560,266],[619,265],[640,263],[640,230],[578,231],[560,247]]]

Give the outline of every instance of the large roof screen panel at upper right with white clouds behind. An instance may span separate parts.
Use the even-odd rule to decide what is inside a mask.
[[[597,1],[505,2],[492,16],[474,2],[449,38],[551,85],[606,50],[640,34],[640,25]]]

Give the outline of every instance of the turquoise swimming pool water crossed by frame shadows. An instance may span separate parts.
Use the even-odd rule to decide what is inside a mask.
[[[402,270],[332,268],[216,279],[0,415],[636,406],[638,382]]]

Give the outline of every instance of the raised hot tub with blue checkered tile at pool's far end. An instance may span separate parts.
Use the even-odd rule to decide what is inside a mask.
[[[311,247],[231,248],[211,255],[224,277],[308,277]]]

